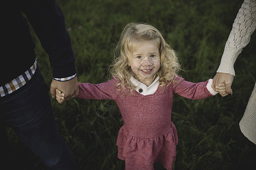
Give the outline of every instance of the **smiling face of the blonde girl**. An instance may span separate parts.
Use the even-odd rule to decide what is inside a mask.
[[[142,41],[129,57],[128,65],[140,82],[150,86],[160,69],[159,47],[153,41]]]

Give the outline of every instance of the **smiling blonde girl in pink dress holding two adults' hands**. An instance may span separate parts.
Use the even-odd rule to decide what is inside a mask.
[[[178,136],[171,121],[173,94],[188,99],[216,95],[212,79],[191,83],[177,75],[179,63],[173,49],[161,33],[148,24],[128,24],[117,44],[113,78],[105,83],[79,83],[82,99],[112,99],[123,116],[116,145],[125,169],[154,169],[160,162],[173,168]],[[225,94],[225,85],[217,87]],[[57,100],[65,94],[56,90]]]

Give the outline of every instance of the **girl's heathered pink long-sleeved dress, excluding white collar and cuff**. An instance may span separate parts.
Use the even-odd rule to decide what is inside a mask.
[[[207,82],[191,83],[181,77],[167,87],[158,87],[151,95],[116,90],[116,79],[105,83],[79,83],[82,99],[112,99],[116,101],[124,120],[116,145],[118,158],[125,160],[125,169],[154,169],[160,162],[172,169],[178,144],[177,130],[171,122],[173,94],[188,99],[205,99],[213,96],[207,90]]]

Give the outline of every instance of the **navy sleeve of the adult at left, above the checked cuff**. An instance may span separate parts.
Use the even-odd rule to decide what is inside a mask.
[[[18,1],[36,32],[53,67],[54,78],[74,75],[75,58],[64,14],[54,0]]]

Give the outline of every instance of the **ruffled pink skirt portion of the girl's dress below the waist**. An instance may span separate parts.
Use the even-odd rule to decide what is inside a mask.
[[[116,145],[118,158],[142,158],[146,164],[161,162],[163,165],[172,164],[176,158],[178,145],[177,130],[172,122],[171,131],[154,138],[137,138],[128,134],[124,126],[119,130]],[[168,165],[164,165],[168,166]]]

